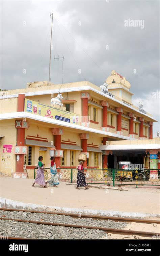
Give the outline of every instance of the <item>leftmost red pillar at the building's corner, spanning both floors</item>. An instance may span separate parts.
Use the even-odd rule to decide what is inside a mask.
[[[17,112],[24,111],[24,99],[25,99],[25,94],[18,95]],[[25,146],[25,128],[17,129],[17,146]],[[19,161],[16,161],[16,172],[24,172],[23,165],[24,165],[24,155],[19,155]]]

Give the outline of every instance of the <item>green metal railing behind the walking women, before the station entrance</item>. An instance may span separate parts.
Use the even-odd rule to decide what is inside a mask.
[[[51,178],[50,168],[45,168],[45,179]],[[86,182],[88,184],[105,184],[112,186],[133,185],[133,186],[160,186],[160,169],[124,170],[124,169],[84,169]],[[157,171],[157,173],[155,173]],[[77,169],[57,168],[60,181],[76,183]],[[34,179],[36,169],[34,169]]]

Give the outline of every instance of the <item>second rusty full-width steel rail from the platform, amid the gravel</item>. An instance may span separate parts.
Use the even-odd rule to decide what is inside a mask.
[[[160,233],[157,232],[145,232],[145,231],[136,231],[136,230],[125,230],[125,229],[112,229],[112,228],[104,228],[104,227],[92,227],[92,226],[81,226],[75,224],[64,224],[64,223],[51,223],[51,222],[39,222],[33,220],[25,220],[25,219],[12,219],[12,218],[0,218],[1,220],[15,220],[16,222],[26,222],[26,223],[34,223],[34,224],[42,224],[42,225],[49,225],[49,226],[63,226],[69,228],[85,228],[85,229],[99,229],[103,230],[107,233],[113,234],[123,234],[123,235],[139,235],[145,237],[153,237],[160,236]]]

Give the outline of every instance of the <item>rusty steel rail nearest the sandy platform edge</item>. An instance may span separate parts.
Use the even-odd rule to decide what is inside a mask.
[[[0,208],[2,211],[19,211],[19,212],[31,212],[31,213],[47,213],[47,214],[57,214],[71,217],[83,217],[83,218],[94,218],[94,219],[110,219],[118,222],[138,222],[138,223],[155,223],[160,224],[160,220],[156,219],[135,219],[135,218],[122,218],[122,217],[111,217],[111,216],[101,216],[101,215],[89,215],[89,214],[76,214],[76,213],[63,213],[63,212],[47,212],[47,211],[33,211],[33,210],[21,210],[21,209],[10,209],[10,208]],[[80,218],[79,217],[79,218]]]

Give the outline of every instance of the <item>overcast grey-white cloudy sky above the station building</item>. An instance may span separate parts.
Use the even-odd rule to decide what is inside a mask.
[[[159,121],[159,1],[1,1],[1,89],[48,80],[51,19],[51,81],[84,79],[100,86],[116,70],[131,83],[133,103]],[[125,20],[144,20],[144,28]],[[81,23],[81,25],[80,25]],[[108,45],[108,49],[106,49]],[[26,70],[26,74],[23,70]],[[81,69],[79,74],[78,69]],[[133,72],[136,69],[136,74]],[[159,123],[154,124],[154,136]]]

